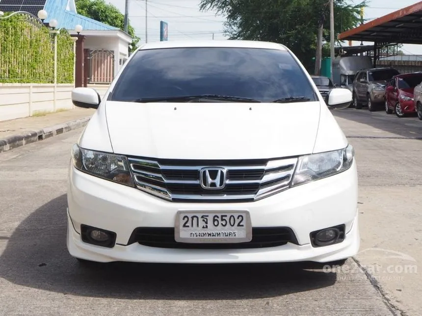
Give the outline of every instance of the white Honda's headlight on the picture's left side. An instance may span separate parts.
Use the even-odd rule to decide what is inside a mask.
[[[133,179],[125,156],[88,150],[75,144],[72,161],[76,169],[91,175],[133,187]]]

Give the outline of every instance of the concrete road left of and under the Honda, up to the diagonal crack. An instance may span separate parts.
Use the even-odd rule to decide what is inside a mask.
[[[79,133],[0,154],[0,315],[399,315],[353,260],[351,273],[79,265],[65,244],[69,152]]]

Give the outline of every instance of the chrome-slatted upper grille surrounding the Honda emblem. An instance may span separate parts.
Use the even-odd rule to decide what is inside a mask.
[[[254,201],[289,188],[297,158],[277,160],[150,160],[129,157],[139,190],[170,201]],[[201,170],[225,172],[221,189],[204,188]]]

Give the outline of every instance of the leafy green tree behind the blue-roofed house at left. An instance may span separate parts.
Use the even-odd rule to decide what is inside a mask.
[[[76,0],[75,3],[79,14],[124,30],[125,16],[118,8],[106,3],[105,0]],[[133,38],[131,51],[134,51],[139,42],[139,37],[135,36],[135,30],[131,24],[128,25],[128,33]]]

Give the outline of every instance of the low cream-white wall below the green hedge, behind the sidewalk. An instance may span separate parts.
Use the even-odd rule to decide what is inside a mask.
[[[89,85],[103,97],[108,85]],[[73,84],[0,83],[0,121],[33,116],[37,113],[73,109]]]

